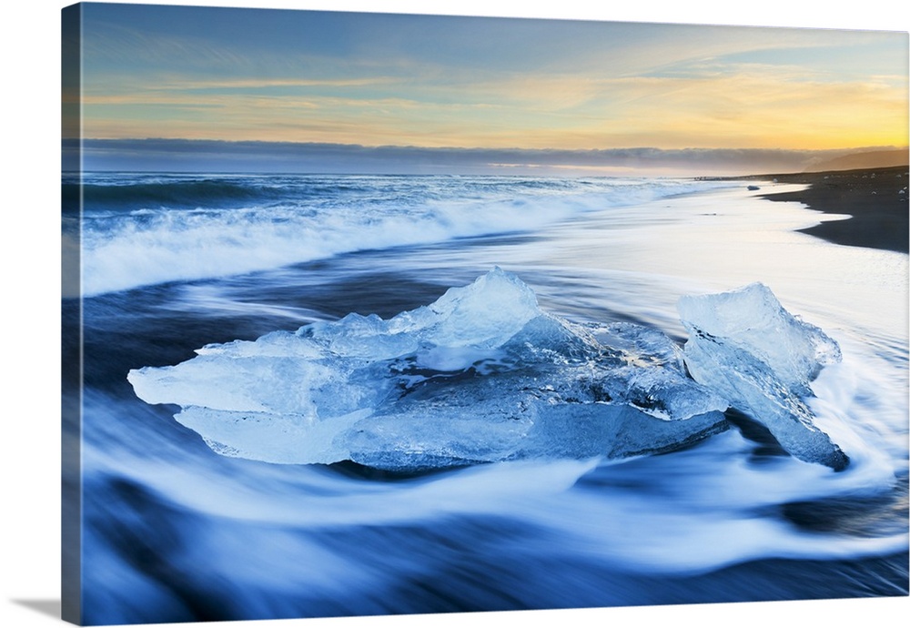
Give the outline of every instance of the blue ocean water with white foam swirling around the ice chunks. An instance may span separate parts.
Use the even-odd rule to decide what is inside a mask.
[[[65,381],[82,424],[64,433],[81,438],[85,623],[908,594],[908,257],[796,232],[845,218],[759,196],[796,186],[131,173],[63,186],[64,247],[82,261],[64,269],[63,313],[65,360],[83,349],[81,391]],[[842,350],[811,407],[850,465],[797,460],[748,420],[622,459],[279,464],[216,451],[127,380],[349,314],[388,321],[494,268],[561,320],[679,346],[681,297],[763,283]],[[275,360],[267,394],[296,394]],[[214,380],[231,377],[220,368]]]

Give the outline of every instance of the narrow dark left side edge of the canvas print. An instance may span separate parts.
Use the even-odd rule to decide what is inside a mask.
[[[61,10],[61,175],[81,175],[82,5]],[[82,211],[81,186],[61,186],[61,218]],[[81,224],[61,233],[61,618],[82,621]],[[72,238],[67,246],[66,237]],[[76,246],[72,246],[76,244]]]

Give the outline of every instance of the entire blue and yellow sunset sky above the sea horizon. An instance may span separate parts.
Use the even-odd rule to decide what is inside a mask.
[[[713,175],[907,145],[905,32],[83,10],[89,169]]]

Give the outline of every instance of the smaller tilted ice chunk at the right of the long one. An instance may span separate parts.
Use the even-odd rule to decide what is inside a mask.
[[[841,360],[834,339],[794,317],[760,283],[682,297],[678,309],[690,333],[685,364],[696,381],[763,423],[794,457],[835,470],[847,466],[804,401],[819,371]]]

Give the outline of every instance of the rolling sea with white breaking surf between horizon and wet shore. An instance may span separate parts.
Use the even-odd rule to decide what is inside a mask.
[[[285,177],[266,187],[261,177],[140,179],[141,185],[124,177],[89,179],[82,234],[82,289],[89,296],[359,250],[531,231],[595,209],[722,185],[674,179]],[[366,183],[373,186],[369,193],[349,189]]]

